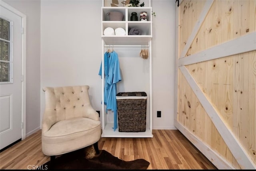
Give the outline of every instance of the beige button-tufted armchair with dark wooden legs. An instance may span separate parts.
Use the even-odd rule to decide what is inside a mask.
[[[94,145],[99,153],[99,114],[92,108],[89,86],[44,87],[45,110],[42,120],[42,152],[60,155]]]

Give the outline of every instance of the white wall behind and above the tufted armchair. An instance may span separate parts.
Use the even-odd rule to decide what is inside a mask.
[[[89,85],[96,110],[101,109],[101,6],[101,0],[41,1],[41,88]]]

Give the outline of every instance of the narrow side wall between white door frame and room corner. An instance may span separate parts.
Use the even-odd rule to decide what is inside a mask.
[[[40,129],[40,0],[3,0],[26,15],[26,135]]]

